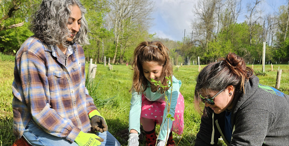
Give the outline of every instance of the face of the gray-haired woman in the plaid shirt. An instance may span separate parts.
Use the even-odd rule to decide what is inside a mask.
[[[69,29],[68,42],[71,42],[80,29],[81,25],[81,11],[78,6],[71,7],[71,14],[68,18],[67,28]]]

